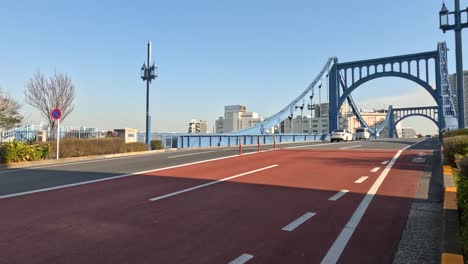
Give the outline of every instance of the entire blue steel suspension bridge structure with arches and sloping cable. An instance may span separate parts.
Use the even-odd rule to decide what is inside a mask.
[[[385,121],[379,127],[369,126],[361,116],[352,97],[352,92],[364,83],[384,77],[403,78],[418,84],[434,99],[435,106],[415,106],[411,108],[393,108],[393,106],[389,106]],[[411,116],[430,119],[436,124],[439,132],[458,128],[457,115],[448,80],[447,46],[445,42],[440,42],[437,45],[437,50],[428,52],[344,63],[338,62],[336,57],[329,58],[320,73],[296,99],[256,126],[235,131],[233,134],[265,134],[267,129],[292,116],[297,104],[306,99],[309,93],[309,97],[312,99],[314,89],[316,87],[320,88],[323,82],[328,84],[329,132],[340,128],[340,108],[345,101],[351,107],[361,126],[367,127],[374,136],[387,128],[389,131],[388,136],[394,137],[396,135],[395,126]]]

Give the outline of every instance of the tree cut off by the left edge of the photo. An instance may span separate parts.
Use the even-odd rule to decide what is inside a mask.
[[[0,127],[10,129],[21,123],[21,105],[0,89]]]

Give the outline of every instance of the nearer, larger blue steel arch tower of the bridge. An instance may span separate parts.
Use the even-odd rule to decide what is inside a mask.
[[[439,131],[446,127],[447,119],[449,119],[450,125],[454,126],[453,120],[456,119],[456,114],[448,82],[447,47],[443,42],[439,43],[437,50],[430,52],[345,63],[338,63],[338,59],[335,58],[329,75],[329,131],[339,127],[339,111],[345,100],[348,101],[361,125],[369,128],[357,110],[351,93],[362,84],[383,77],[403,78],[423,87],[437,104],[437,116],[433,117],[423,113],[414,113],[414,115],[431,119],[437,124]],[[430,75],[434,76],[435,87],[430,83]],[[418,108],[416,107],[412,111],[416,111],[416,109]],[[421,111],[427,111],[427,109],[423,107]],[[393,135],[395,125],[401,120],[400,118],[395,120],[393,112],[391,115],[387,115],[387,118],[391,119],[390,122],[386,120],[384,123],[389,126],[389,134],[391,132]],[[373,131],[371,128],[370,130],[374,135],[379,132]],[[380,128],[380,132],[382,130],[383,127]]]

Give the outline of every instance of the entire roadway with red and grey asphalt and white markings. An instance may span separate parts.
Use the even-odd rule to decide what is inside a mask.
[[[391,263],[435,139],[0,171],[0,263]]]

